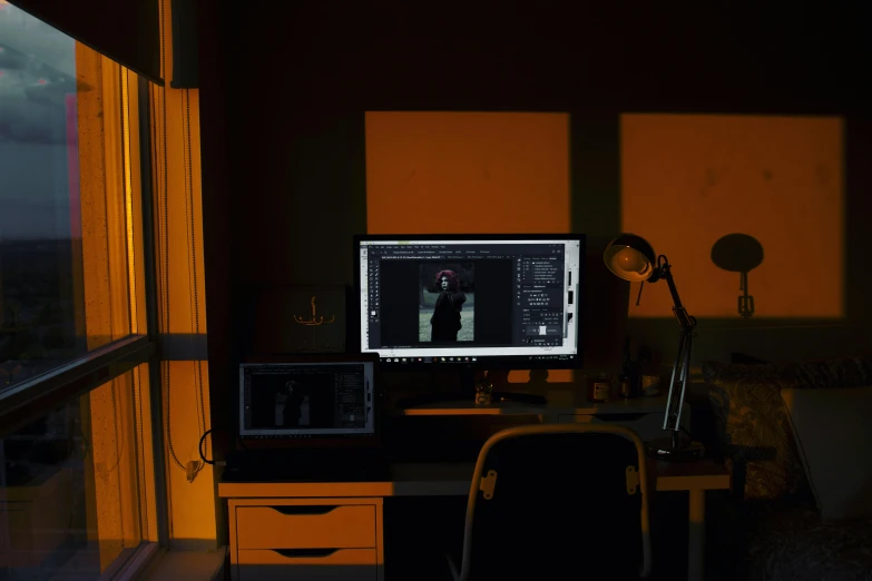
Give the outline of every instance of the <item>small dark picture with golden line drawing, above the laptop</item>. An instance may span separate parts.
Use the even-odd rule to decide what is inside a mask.
[[[344,285],[265,288],[254,298],[254,353],[345,352]]]

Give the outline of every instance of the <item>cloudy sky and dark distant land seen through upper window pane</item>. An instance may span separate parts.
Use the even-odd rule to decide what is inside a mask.
[[[76,95],[88,89],[71,38],[0,3],[0,390],[87,351]]]

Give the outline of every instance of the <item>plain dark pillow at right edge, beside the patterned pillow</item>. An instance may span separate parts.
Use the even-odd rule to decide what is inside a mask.
[[[872,387],[782,397],[822,520],[872,518]]]

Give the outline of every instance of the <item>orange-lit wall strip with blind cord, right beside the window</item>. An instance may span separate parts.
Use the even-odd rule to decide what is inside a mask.
[[[164,77],[173,78],[172,2],[160,1]],[[153,108],[155,221],[163,335],[202,341],[206,322],[203,268],[203,189],[199,148],[199,92],[150,86]],[[213,467],[197,449],[210,429],[208,365],[164,361],[161,403],[170,548],[208,548],[217,538]],[[212,457],[212,443],[203,443]],[[192,464],[193,463],[193,464]],[[196,466],[196,467],[194,467]]]

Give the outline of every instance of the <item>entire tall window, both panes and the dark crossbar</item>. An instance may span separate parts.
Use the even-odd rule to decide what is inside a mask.
[[[0,0],[0,579],[98,579],[165,520],[138,86]]]

